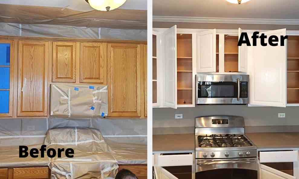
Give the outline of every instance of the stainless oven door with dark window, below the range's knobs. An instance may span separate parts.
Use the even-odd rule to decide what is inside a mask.
[[[196,160],[195,178],[257,179],[256,158]]]

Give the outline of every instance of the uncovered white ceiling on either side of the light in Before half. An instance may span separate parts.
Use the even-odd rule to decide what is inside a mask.
[[[76,11],[92,11],[85,0],[0,0],[0,4],[47,6],[56,8],[70,8]],[[146,10],[146,0],[127,0],[120,9]]]

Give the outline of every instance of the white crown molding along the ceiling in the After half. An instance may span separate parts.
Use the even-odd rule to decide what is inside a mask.
[[[299,19],[251,19],[251,18],[205,18],[182,16],[153,16],[156,22],[193,22],[193,23],[224,23],[224,24],[278,24],[299,25]]]

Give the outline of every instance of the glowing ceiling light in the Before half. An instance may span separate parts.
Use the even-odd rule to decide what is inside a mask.
[[[110,11],[119,8],[126,0],[85,0],[89,5],[99,11]]]

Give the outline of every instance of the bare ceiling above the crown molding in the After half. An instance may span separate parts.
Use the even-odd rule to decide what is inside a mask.
[[[225,0],[153,0],[153,15],[299,19],[299,0],[251,0],[241,5]]]

